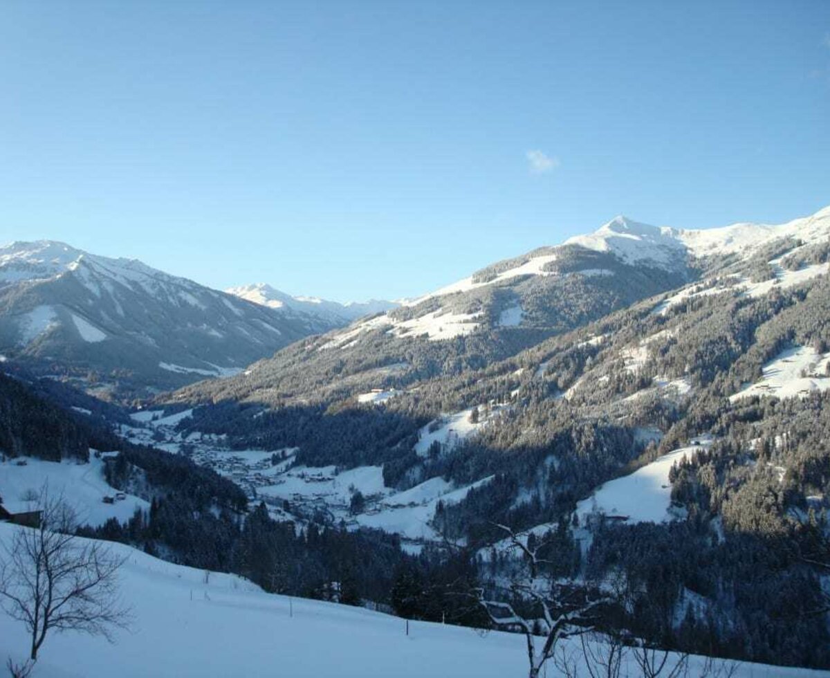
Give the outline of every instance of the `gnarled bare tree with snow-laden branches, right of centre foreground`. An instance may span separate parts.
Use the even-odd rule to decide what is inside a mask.
[[[531,545],[528,534],[516,533],[505,525],[497,527],[507,534],[509,548],[521,555],[520,572],[506,586],[476,588],[474,594],[494,626],[524,633],[530,663],[528,676],[537,678],[544,662],[555,655],[559,641],[591,630],[592,612],[611,599],[591,599],[574,582],[545,575],[544,565],[550,561],[539,554],[546,542],[540,540]],[[539,640],[542,643],[537,649]]]

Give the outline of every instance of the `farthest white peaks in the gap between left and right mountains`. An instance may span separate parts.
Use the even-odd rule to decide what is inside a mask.
[[[240,299],[279,310],[286,317],[300,313],[318,318],[320,319],[320,331],[342,327],[362,318],[364,315],[383,313],[399,305],[393,301],[376,299],[339,304],[337,301],[319,299],[313,296],[291,296],[264,282],[230,287],[225,291],[228,294],[238,296]]]

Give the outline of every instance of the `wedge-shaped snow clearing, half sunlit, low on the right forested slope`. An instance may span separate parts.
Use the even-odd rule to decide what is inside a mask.
[[[701,441],[702,445],[708,441]],[[579,524],[585,524],[594,512],[626,516],[628,523],[661,523],[671,520],[671,485],[669,471],[683,455],[691,456],[701,446],[681,447],[669,452],[628,476],[609,480],[594,490],[588,499],[576,505]]]

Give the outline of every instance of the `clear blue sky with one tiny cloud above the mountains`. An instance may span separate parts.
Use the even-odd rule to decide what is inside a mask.
[[[0,2],[0,241],[418,295],[830,204],[830,2]]]

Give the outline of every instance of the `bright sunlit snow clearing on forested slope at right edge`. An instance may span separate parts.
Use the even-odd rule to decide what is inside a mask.
[[[784,349],[764,365],[764,378],[730,396],[730,401],[750,396],[803,398],[813,391],[824,391],[830,388],[828,363],[830,354],[818,354],[810,346]]]

